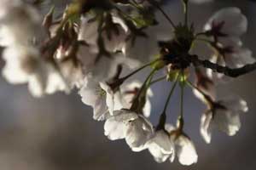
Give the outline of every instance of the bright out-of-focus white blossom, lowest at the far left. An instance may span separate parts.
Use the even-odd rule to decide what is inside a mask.
[[[32,47],[14,45],[4,49],[3,77],[10,83],[28,83],[32,95],[40,97],[56,91],[69,92],[67,83],[51,63],[40,58]]]

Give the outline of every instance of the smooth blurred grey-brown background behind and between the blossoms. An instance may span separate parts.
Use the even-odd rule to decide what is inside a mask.
[[[56,1],[57,7],[65,7]],[[191,4],[189,17],[197,29],[218,8],[236,6],[247,15],[249,27],[243,37],[245,46],[256,56],[256,3],[246,0],[217,0]],[[175,21],[182,20],[179,0],[170,0],[165,8]],[[160,31],[168,31],[166,20]],[[142,44],[143,47],[143,44]],[[146,49],[145,49],[146,50]],[[34,99],[26,86],[13,86],[0,77],[0,169],[1,170],[82,170],[82,169],[256,169],[256,72],[218,87],[219,96],[237,94],[247,100],[250,110],[241,115],[242,127],[235,137],[214,131],[206,144],[199,133],[204,106],[190,89],[185,91],[185,131],[195,142],[199,161],[191,167],[174,163],[158,164],[144,150],[132,152],[124,140],[110,141],[103,134],[103,123],[92,119],[92,110],[84,105],[76,91]],[[153,87],[151,120],[157,122],[166,100],[168,83]],[[178,94],[172,98],[170,122],[177,117]]]

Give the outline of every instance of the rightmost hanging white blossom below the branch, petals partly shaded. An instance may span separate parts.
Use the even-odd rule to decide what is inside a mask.
[[[201,116],[201,135],[207,143],[211,142],[212,129],[219,130],[233,136],[241,127],[240,113],[247,112],[247,103],[242,99],[230,98],[220,100],[213,108]]]

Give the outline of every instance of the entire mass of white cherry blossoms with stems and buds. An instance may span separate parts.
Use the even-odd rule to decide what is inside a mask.
[[[198,156],[183,130],[184,88],[192,88],[207,105],[200,129],[207,143],[214,127],[235,135],[247,103],[234,97],[218,99],[215,84],[253,71],[256,64],[252,52],[242,46],[247,19],[239,8],[219,10],[196,32],[195,23],[189,25],[189,0],[182,3],[184,21],[175,24],[161,1],[154,0],[77,0],[67,5],[61,18],[55,16],[55,8],[41,17],[35,4],[2,0],[3,77],[10,83],[27,83],[36,97],[76,88],[84,104],[93,108],[93,118],[105,122],[108,139],[125,139],[131,150],[148,150],[157,162],[177,157],[181,164],[191,165]],[[169,41],[154,31],[158,10],[172,26]],[[207,54],[201,54],[201,45]],[[131,78],[146,67],[151,71],[143,82]],[[172,87],[159,123],[153,125],[150,87],[165,80]],[[167,108],[177,86],[180,116],[172,126],[166,122]]]

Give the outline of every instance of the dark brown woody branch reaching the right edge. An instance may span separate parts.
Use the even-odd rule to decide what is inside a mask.
[[[212,63],[208,60],[199,59],[197,55],[189,55],[189,59],[191,63],[195,66],[203,66],[208,69],[212,69],[212,71],[223,73],[228,77],[240,77],[249,72],[256,71],[256,62],[253,64],[244,65],[240,68],[230,68],[227,66],[221,66],[215,63]]]

